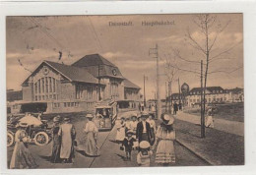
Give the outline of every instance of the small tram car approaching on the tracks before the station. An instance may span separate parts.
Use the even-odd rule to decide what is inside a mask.
[[[93,121],[96,123],[98,131],[111,130],[114,126],[116,115],[116,103],[96,106],[96,115]]]

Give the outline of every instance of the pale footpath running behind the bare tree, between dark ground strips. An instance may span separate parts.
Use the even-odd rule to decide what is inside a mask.
[[[184,113],[182,111],[179,111],[175,116],[175,118],[178,120],[182,120],[182,121],[186,121],[186,122],[190,122],[198,125],[201,123],[200,116]],[[224,119],[214,118],[214,124],[215,124],[216,130],[238,135],[238,136],[244,136],[244,123],[242,122],[228,121]]]

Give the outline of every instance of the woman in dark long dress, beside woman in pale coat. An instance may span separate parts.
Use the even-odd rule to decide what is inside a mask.
[[[51,128],[52,136],[52,147],[51,147],[51,157],[50,161],[52,163],[60,162],[60,136],[58,135],[60,128],[60,116],[57,115],[53,118],[53,126]]]

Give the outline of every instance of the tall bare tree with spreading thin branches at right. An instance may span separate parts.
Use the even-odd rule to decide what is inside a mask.
[[[193,36],[190,29],[188,28],[185,34],[185,41],[189,44],[189,46],[194,50],[198,51],[203,58],[204,61],[204,86],[203,86],[203,114],[205,114],[206,110],[206,87],[208,82],[208,75],[218,72],[223,73],[231,73],[237,70],[237,68],[233,71],[226,72],[222,70],[209,72],[209,67],[213,61],[218,61],[222,59],[230,59],[228,58],[227,54],[230,50],[232,50],[235,45],[230,46],[229,48],[225,48],[224,50],[220,51],[219,53],[216,53],[218,45],[216,45],[217,40],[219,39],[220,34],[226,29],[230,21],[227,21],[224,25],[220,21],[218,21],[218,18],[216,15],[210,15],[210,14],[200,14],[196,15],[193,23],[197,27],[196,31],[199,31],[199,33],[202,35],[202,38],[200,40],[199,37]],[[239,43],[237,43],[239,44]],[[200,64],[200,60],[191,60],[186,59],[180,55],[179,50],[173,49],[173,53],[175,56],[177,56],[179,59],[189,62],[189,63],[195,63]],[[238,68],[239,69],[239,68]]]

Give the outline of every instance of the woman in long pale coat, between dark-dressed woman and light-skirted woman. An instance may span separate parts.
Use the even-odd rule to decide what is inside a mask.
[[[64,118],[64,123],[60,126],[58,135],[61,137],[60,158],[63,159],[64,163],[73,163],[76,130],[74,125],[70,123],[69,117]]]

